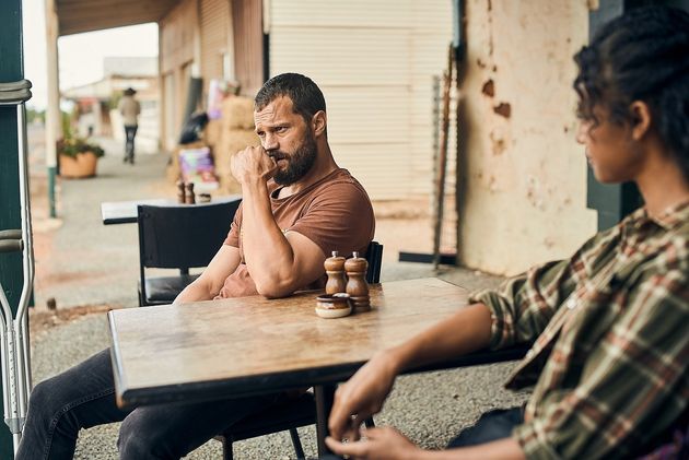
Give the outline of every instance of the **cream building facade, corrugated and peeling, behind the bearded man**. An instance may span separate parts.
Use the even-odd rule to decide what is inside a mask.
[[[327,98],[336,158],[374,200],[432,196],[433,78],[447,67],[454,5],[466,52],[453,92],[460,115],[456,122],[453,106],[446,215],[459,262],[512,274],[568,256],[596,229],[571,90],[571,57],[588,39],[596,0],[142,1],[119,24],[94,20],[86,0],[62,20],[55,1],[60,33],[159,23],[166,150],[189,105],[203,106],[211,79],[253,95],[277,73],[312,76]],[[143,8],[153,4],[155,13]],[[192,76],[202,79],[196,105]]]

